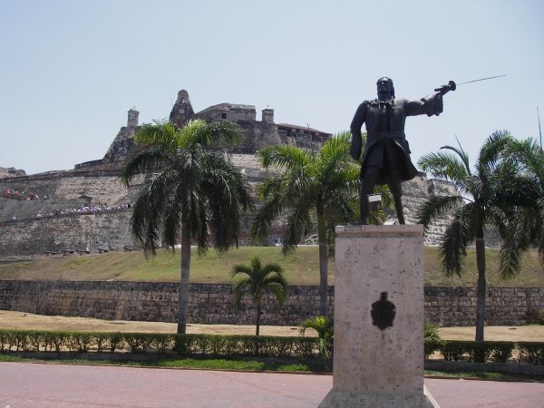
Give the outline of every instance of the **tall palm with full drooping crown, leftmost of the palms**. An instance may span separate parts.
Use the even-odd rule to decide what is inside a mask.
[[[160,242],[172,251],[181,242],[178,333],[185,333],[189,302],[190,244],[209,248],[210,232],[219,251],[238,246],[240,217],[251,208],[248,183],[218,150],[242,138],[230,121],[189,121],[182,129],[165,121],[144,125],[134,137],[145,148],[121,169],[128,187],[142,171],[151,174],[133,206],[131,232],[146,257]]]

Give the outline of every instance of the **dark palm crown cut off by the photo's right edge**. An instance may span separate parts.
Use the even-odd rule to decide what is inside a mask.
[[[500,230],[500,275],[511,277],[519,271],[521,254],[532,246],[544,264],[544,151],[535,140],[511,139],[502,157],[505,169],[514,174],[500,198],[510,205]]]

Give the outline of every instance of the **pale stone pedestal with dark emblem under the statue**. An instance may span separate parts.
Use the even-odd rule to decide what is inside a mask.
[[[423,227],[336,234],[334,379],[319,406],[438,406],[423,387]]]

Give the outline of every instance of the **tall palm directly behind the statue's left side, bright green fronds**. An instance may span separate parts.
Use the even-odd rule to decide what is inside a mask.
[[[335,222],[356,217],[359,169],[348,159],[348,138],[348,132],[341,133],[325,141],[318,153],[288,145],[268,146],[258,153],[265,169],[281,172],[258,187],[263,205],[253,219],[252,235],[256,239],[267,237],[272,221],[285,215],[282,244],[287,254],[311,230],[315,215],[322,316],[327,313],[327,237],[332,241]]]

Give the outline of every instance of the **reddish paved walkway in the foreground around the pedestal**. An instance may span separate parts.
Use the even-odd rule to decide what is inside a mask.
[[[331,375],[0,363],[0,408],[316,407]],[[544,384],[427,379],[442,408],[543,407]]]

